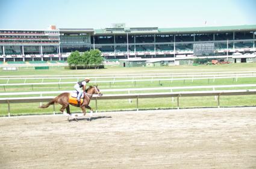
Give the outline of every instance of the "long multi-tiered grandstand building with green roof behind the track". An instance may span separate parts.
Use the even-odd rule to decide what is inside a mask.
[[[256,25],[125,28],[124,24],[116,24],[105,29],[0,29],[0,62],[64,61],[72,51],[90,49],[99,49],[107,60],[212,55],[225,58],[236,52],[254,53],[255,36]]]

